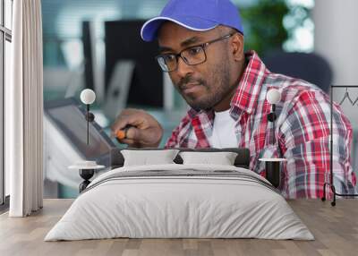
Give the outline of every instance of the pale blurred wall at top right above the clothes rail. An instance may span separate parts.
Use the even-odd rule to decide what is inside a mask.
[[[331,64],[335,84],[358,85],[358,1],[316,0],[315,52]]]

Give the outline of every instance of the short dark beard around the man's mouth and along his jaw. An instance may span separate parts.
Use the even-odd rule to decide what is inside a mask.
[[[207,110],[215,107],[232,90],[232,86],[230,86],[231,73],[227,59],[218,63],[209,70],[209,75],[206,76],[205,80],[186,76],[176,84],[176,89],[185,99],[186,103],[195,110]],[[183,93],[186,84],[190,82],[200,84],[205,93],[199,97]]]

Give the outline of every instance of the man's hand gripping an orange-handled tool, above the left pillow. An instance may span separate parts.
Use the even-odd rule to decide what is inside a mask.
[[[125,127],[129,127],[125,132],[126,137],[118,141],[132,148],[156,148],[163,136],[163,128],[158,121],[140,109],[124,109],[111,126],[112,135],[117,137],[117,132]]]

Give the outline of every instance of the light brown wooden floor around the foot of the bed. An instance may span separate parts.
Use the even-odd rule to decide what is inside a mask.
[[[29,218],[0,216],[0,255],[358,255],[358,201],[289,201],[316,240],[108,239],[43,242],[72,200],[45,200]]]

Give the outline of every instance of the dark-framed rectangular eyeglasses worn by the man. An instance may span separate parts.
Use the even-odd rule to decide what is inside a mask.
[[[164,72],[174,72],[178,68],[179,57],[188,65],[203,64],[207,61],[207,54],[205,48],[212,43],[231,38],[235,33],[228,34],[221,38],[211,40],[199,46],[188,47],[183,49],[179,54],[163,54],[156,56],[159,66]]]

